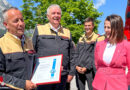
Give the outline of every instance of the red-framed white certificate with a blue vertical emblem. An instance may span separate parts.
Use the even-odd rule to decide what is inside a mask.
[[[60,83],[63,55],[39,57],[31,81],[37,85]]]

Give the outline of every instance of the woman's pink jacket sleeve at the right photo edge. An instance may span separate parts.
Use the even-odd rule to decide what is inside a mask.
[[[127,81],[128,85],[130,85],[130,42],[127,42],[125,45],[126,45],[126,60],[128,67]]]

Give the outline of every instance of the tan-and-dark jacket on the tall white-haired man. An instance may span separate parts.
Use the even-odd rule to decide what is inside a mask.
[[[68,29],[61,26],[55,32],[49,24],[40,25],[36,27],[32,41],[37,57],[63,54],[61,75],[74,75],[74,45]]]

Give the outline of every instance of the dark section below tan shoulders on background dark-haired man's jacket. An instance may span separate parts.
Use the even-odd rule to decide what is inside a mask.
[[[95,42],[92,43],[84,42],[77,44],[76,66],[86,67],[88,70],[91,70],[93,68],[94,46]]]

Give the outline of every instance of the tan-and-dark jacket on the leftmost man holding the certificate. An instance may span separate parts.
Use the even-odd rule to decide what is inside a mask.
[[[25,81],[31,79],[34,55],[31,41],[25,37],[24,45],[12,34],[0,38],[0,76],[9,85],[25,88]]]

